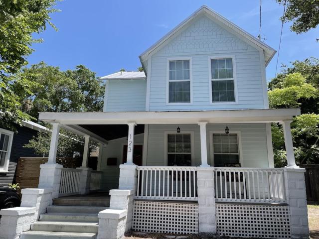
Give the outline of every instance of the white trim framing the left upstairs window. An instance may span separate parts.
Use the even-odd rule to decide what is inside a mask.
[[[169,61],[189,60],[189,98],[190,102],[169,103]],[[172,80],[171,82],[180,82],[188,80]],[[166,106],[187,106],[193,104],[193,63],[192,57],[170,57],[166,59]]]

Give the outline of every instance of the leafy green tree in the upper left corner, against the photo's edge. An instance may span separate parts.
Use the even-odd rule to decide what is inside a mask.
[[[14,123],[29,119],[21,111],[21,98],[31,95],[37,87],[30,75],[21,75],[21,67],[27,64],[26,56],[33,51],[30,45],[32,33],[42,32],[46,23],[51,26],[49,13],[55,0],[1,0],[0,1],[0,117],[2,127],[14,128]]]

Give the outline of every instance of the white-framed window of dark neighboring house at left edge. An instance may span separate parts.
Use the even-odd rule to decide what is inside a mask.
[[[8,170],[12,137],[12,131],[0,128],[0,172]]]

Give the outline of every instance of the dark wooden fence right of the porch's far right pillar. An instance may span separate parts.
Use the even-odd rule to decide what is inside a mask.
[[[300,164],[306,168],[305,182],[308,202],[319,202],[319,164]]]

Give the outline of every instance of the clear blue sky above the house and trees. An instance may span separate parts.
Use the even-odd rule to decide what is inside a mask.
[[[35,38],[43,43],[35,50],[29,64],[44,61],[62,70],[83,64],[104,76],[120,68],[136,70],[138,56],[169,30],[206,4],[254,36],[259,33],[259,0],[64,0],[52,13],[50,26]],[[265,43],[278,50],[283,7],[275,0],[262,2],[262,35]],[[284,24],[278,71],[281,63],[307,57],[319,57],[316,37],[319,30],[296,35]],[[275,76],[277,54],[268,65],[267,79]]]

